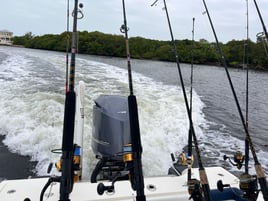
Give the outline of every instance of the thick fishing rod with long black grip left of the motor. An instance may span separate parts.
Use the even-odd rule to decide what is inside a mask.
[[[79,4],[79,8],[82,8],[83,4]],[[69,1],[68,1],[69,8]],[[78,13],[82,16],[77,17]],[[43,201],[43,197],[47,188],[53,182],[60,183],[60,198],[59,201],[70,201],[69,195],[73,190],[74,181],[77,180],[75,171],[80,171],[80,147],[74,144],[74,124],[75,124],[75,107],[76,107],[76,93],[74,91],[75,84],[75,55],[77,52],[77,19],[81,19],[83,14],[78,9],[78,0],[74,0],[73,10],[73,32],[72,32],[72,52],[71,52],[71,64],[70,64],[70,76],[69,76],[69,89],[65,95],[65,108],[64,108],[64,120],[63,120],[63,136],[62,136],[62,148],[61,159],[56,163],[57,169],[61,172],[61,176],[52,176],[48,179],[46,185],[43,187],[40,194],[40,201]]]

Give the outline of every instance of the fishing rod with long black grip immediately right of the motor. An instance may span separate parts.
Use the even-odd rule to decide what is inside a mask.
[[[129,82],[129,92],[128,96],[128,109],[129,109],[129,124],[130,124],[130,135],[132,142],[132,155],[133,155],[133,168],[131,170],[131,184],[132,188],[136,191],[137,201],[146,201],[144,194],[144,178],[142,173],[142,145],[140,137],[140,127],[139,127],[139,117],[138,117],[138,106],[136,96],[133,92],[133,82],[132,82],[132,71],[130,63],[130,52],[128,43],[128,27],[127,27],[127,17],[125,1],[122,0],[123,5],[123,18],[124,24],[121,26],[120,31],[125,34],[126,41],[126,54],[127,54],[127,67],[128,67],[128,82]]]

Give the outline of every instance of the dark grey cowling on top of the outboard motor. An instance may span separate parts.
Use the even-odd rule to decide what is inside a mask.
[[[127,97],[102,95],[93,106],[92,149],[97,157],[123,160],[126,144],[131,143]]]

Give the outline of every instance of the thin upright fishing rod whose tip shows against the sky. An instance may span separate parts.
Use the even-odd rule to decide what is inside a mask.
[[[190,115],[192,117],[192,110],[193,110],[193,74],[194,74],[194,22],[195,18],[193,18],[193,29],[192,29],[192,51],[191,51],[191,80],[190,80]],[[192,157],[193,147],[192,147],[192,130],[191,126],[189,128],[189,134],[188,134],[188,157]],[[190,161],[192,163],[192,161]],[[188,164],[188,181],[191,179],[191,163]]]

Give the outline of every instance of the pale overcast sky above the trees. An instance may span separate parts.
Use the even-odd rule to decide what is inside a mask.
[[[67,0],[0,0],[0,30],[14,35],[62,33],[66,30]],[[79,0],[84,4],[80,31],[121,34],[123,23],[121,0]],[[125,0],[129,36],[170,40],[163,1],[151,7],[154,0]],[[173,34],[176,39],[192,38],[195,17],[195,39],[214,41],[202,0],[166,0]],[[219,41],[243,40],[246,37],[246,0],[206,0]],[[262,17],[268,23],[268,0],[257,0]],[[70,10],[73,0],[70,0]],[[72,23],[70,23],[72,24]],[[72,29],[72,28],[70,28]],[[251,40],[262,26],[253,0],[249,0],[249,33]]]

